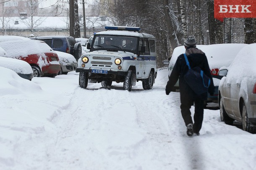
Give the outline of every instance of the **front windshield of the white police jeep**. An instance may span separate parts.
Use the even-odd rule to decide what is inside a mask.
[[[128,51],[137,53],[138,37],[119,36],[119,35],[94,35],[91,51]]]

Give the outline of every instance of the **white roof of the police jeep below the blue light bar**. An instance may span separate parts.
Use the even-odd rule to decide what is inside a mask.
[[[145,38],[154,38],[151,34],[147,33],[138,33],[127,30],[106,30],[96,33],[96,35],[118,35],[118,36],[135,36],[135,37],[145,37]]]

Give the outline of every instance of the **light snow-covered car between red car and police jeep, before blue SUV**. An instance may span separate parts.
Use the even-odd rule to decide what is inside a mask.
[[[75,71],[77,67],[76,58],[69,53],[63,53],[61,51],[55,51],[58,54],[60,60],[60,72],[59,74],[68,74],[69,71]]]

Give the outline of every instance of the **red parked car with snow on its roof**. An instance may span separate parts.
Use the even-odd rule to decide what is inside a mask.
[[[30,64],[34,77],[55,77],[60,71],[58,55],[44,41],[16,40],[0,42],[11,58]]]

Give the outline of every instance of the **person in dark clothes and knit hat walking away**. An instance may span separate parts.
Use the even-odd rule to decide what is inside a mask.
[[[184,46],[186,49],[185,54],[190,63],[190,67],[194,68],[199,66],[201,70],[204,71],[204,74],[210,78],[211,82],[208,91],[211,95],[213,95],[214,84],[205,53],[196,48],[196,40],[191,36],[184,41]],[[186,64],[185,57],[183,54],[180,54],[172,69],[172,73],[169,76],[169,81],[167,82],[165,92],[167,95],[169,95],[171,91],[175,91],[174,85],[179,79],[181,115],[187,127],[188,136],[192,136],[193,133],[199,135],[199,131],[202,127],[204,118],[204,101],[207,99],[207,92],[197,95],[184,79],[184,75],[187,72],[188,66]],[[193,104],[195,105],[194,123],[190,112],[190,108],[193,106]]]

